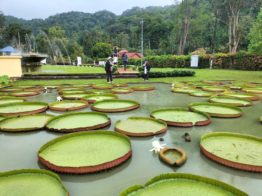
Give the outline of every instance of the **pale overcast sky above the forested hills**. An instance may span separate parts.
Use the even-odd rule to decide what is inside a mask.
[[[32,18],[45,19],[56,13],[69,11],[95,13],[104,9],[120,15],[123,11],[135,6],[147,7],[171,4],[173,4],[173,0],[0,0],[0,10],[5,15],[31,20]]]

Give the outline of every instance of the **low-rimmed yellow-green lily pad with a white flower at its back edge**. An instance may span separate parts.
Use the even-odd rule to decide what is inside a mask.
[[[59,111],[78,110],[88,106],[86,101],[57,101],[49,104],[49,109]]]

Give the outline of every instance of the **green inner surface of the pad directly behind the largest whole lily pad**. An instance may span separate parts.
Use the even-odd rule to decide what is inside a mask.
[[[54,129],[73,129],[79,127],[91,127],[97,124],[103,124],[108,122],[106,116],[97,115],[97,114],[78,114],[65,116],[62,118],[58,118],[56,120],[52,120],[46,126]]]

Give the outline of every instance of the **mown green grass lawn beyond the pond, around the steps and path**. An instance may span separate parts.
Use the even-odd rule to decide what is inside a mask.
[[[66,66],[67,71],[62,73],[105,73],[105,69],[101,67],[72,67]],[[45,65],[42,70],[57,70],[56,66]],[[58,70],[65,70],[64,66],[58,66]],[[132,70],[132,68],[130,68]],[[170,71],[172,68],[152,68],[150,71]],[[238,70],[218,70],[218,69],[196,69],[196,74],[193,77],[177,77],[177,78],[149,78],[149,82],[166,82],[166,81],[190,81],[190,80],[247,80],[256,83],[262,83],[261,71],[238,71]],[[43,73],[43,72],[41,72]],[[46,72],[57,73],[57,72]],[[69,84],[69,83],[98,83],[106,82],[105,79],[90,79],[90,80],[19,80],[10,84]],[[120,78],[114,79],[114,82],[119,83],[134,83],[144,82],[141,78]]]

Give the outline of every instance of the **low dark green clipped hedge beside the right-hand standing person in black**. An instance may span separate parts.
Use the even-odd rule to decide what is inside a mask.
[[[173,70],[167,72],[161,71],[151,71],[148,73],[149,78],[166,78],[166,77],[185,77],[185,76],[194,76],[194,70]],[[144,71],[139,72],[139,76],[143,77]]]

